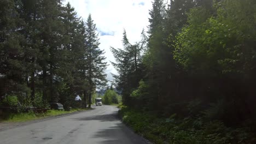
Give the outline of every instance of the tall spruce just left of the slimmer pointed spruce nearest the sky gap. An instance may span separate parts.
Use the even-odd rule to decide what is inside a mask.
[[[83,21],[77,17],[77,13],[70,3],[62,7],[62,39],[61,50],[59,50],[60,62],[57,67],[57,74],[62,78],[59,80],[61,86],[67,88],[62,89],[60,101],[66,107],[71,105],[74,94],[83,90],[85,79],[83,79],[81,64],[84,61],[85,53],[85,28]]]

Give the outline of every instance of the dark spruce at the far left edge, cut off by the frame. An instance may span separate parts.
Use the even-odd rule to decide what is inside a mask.
[[[27,92],[25,55],[21,45],[24,37],[20,34],[24,21],[18,13],[20,7],[20,1],[0,2],[0,96]]]

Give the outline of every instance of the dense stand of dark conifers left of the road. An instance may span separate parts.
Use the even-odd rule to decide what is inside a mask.
[[[79,94],[90,107],[107,82],[91,15],[60,0],[1,0],[0,9],[1,105],[69,107]]]

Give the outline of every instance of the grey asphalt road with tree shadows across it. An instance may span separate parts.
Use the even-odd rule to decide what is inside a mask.
[[[48,119],[0,131],[0,143],[147,143],[117,117],[117,107]]]

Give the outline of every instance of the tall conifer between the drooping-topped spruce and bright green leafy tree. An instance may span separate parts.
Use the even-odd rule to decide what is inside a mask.
[[[144,64],[148,91],[151,91],[149,97],[158,101],[160,112],[164,111],[168,101],[173,103],[179,97],[177,74],[181,71],[173,59],[173,41],[187,22],[186,13],[193,7],[194,1],[170,1],[166,5],[162,0],[155,0],[149,11],[148,51],[144,56]]]

